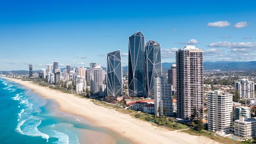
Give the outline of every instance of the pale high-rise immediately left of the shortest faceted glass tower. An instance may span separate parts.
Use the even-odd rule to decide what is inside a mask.
[[[102,68],[100,65],[95,65],[93,68],[93,94],[98,95],[100,92],[100,85],[103,83],[102,79]]]

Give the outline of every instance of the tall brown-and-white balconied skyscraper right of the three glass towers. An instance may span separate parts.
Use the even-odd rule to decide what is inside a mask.
[[[202,116],[203,96],[203,50],[185,46],[176,52],[177,65],[177,116],[189,119],[191,115]]]

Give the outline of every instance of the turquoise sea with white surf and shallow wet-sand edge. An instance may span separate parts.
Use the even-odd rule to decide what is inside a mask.
[[[81,117],[58,111],[53,100],[45,100],[30,89],[2,78],[0,111],[1,144],[107,143],[102,135],[113,139],[115,144],[130,143]]]

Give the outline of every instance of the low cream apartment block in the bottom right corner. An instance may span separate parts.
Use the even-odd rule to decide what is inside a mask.
[[[249,139],[256,136],[256,119],[248,119],[246,116],[239,116],[239,120],[235,120],[235,135]]]

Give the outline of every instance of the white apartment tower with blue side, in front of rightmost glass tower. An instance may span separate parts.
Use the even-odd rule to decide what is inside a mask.
[[[155,115],[165,115],[165,109],[167,110],[167,116],[173,115],[173,98],[171,84],[167,83],[166,76],[160,76],[154,78],[154,113]],[[160,110],[160,113],[159,113]]]

